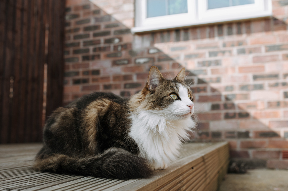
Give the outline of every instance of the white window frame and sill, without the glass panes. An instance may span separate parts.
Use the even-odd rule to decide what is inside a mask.
[[[272,16],[271,0],[254,0],[253,4],[208,9],[208,0],[187,0],[187,13],[147,18],[147,0],[135,0],[135,27],[132,33],[188,27]]]

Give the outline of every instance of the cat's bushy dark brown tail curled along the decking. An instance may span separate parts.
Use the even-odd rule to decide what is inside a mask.
[[[45,159],[38,157],[32,168],[43,172],[116,179],[147,178],[152,173],[145,158],[115,150],[85,158],[63,154],[53,154]]]

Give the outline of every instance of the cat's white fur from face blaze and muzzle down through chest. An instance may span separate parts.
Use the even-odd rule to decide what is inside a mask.
[[[187,105],[193,104],[187,89],[179,85],[179,97],[168,108],[140,111],[131,114],[130,137],[139,147],[139,156],[147,158],[154,169],[165,169],[179,155],[182,140],[189,139],[189,131],[196,124]],[[183,117],[186,115],[186,117]]]

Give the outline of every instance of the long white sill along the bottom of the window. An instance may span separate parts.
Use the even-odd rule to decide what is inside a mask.
[[[209,20],[194,20],[190,22],[182,22],[182,23],[170,23],[170,24],[158,24],[158,25],[150,25],[150,26],[141,26],[141,27],[133,27],[131,29],[132,33],[143,33],[143,32],[152,32],[152,31],[159,31],[165,29],[175,29],[175,28],[183,28],[183,27],[190,27],[202,24],[212,24],[212,23],[221,23],[221,22],[230,22],[230,21],[237,21],[237,20],[248,20],[254,18],[263,18],[263,17],[271,17],[272,11],[264,11],[261,13],[252,13],[246,14],[243,16],[234,16],[230,18],[213,18]]]

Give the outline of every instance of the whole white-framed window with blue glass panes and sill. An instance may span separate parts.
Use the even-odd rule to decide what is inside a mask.
[[[272,16],[271,0],[135,0],[132,32]]]

